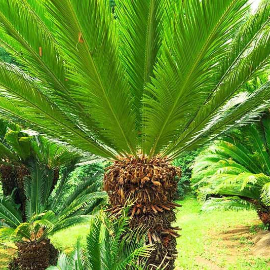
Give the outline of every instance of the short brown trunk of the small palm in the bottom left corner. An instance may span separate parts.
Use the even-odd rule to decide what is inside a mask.
[[[50,265],[56,265],[57,250],[49,239],[41,242],[16,243],[16,246],[18,256],[10,262],[10,270],[45,270]]]

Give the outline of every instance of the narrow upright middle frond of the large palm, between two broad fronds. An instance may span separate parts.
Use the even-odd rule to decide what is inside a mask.
[[[160,55],[162,44],[164,2],[145,0],[115,1],[121,59],[128,73],[134,96],[136,118],[141,123],[144,88]]]

